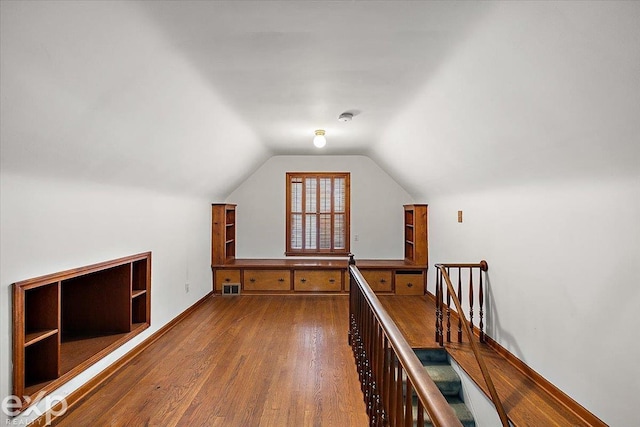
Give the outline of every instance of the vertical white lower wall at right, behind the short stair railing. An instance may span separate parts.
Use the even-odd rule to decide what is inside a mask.
[[[640,177],[429,202],[432,261],[489,263],[489,335],[610,425],[637,420]]]

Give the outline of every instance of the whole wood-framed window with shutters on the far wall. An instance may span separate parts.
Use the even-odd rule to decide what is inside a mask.
[[[287,255],[349,253],[348,172],[287,173]]]

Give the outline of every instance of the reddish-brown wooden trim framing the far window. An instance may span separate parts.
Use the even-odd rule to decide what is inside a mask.
[[[291,248],[291,180],[292,178],[302,178],[303,182],[305,178],[344,178],[345,179],[345,235],[344,235],[344,249],[292,249]],[[350,254],[351,246],[351,173],[350,172],[287,172],[286,173],[286,231],[285,231],[285,255],[286,256],[347,256]],[[320,192],[318,192],[319,195]],[[304,205],[304,201],[303,201]],[[304,207],[303,207],[304,212]],[[320,215],[320,213],[317,213]],[[333,197],[331,202],[331,216],[333,221]],[[304,223],[304,222],[303,222]],[[318,222],[319,224],[319,222]],[[334,242],[333,227],[331,230],[331,245]]]

